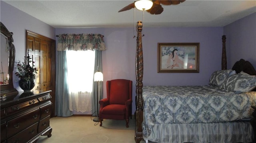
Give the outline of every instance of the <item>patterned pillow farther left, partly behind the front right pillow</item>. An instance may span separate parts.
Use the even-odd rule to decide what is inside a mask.
[[[228,74],[232,72],[232,70],[221,70],[215,71],[212,73],[210,77],[209,84],[212,86],[220,86],[222,82],[228,77]]]

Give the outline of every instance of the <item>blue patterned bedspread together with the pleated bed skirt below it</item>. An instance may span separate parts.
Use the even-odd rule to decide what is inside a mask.
[[[144,86],[143,138],[158,143],[250,143],[256,92],[216,86]]]

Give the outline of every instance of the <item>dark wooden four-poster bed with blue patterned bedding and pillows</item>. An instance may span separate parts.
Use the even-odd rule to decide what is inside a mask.
[[[210,86],[143,86],[142,22],[137,22],[136,143],[143,139],[158,143],[253,141],[255,89],[248,92],[252,89],[233,84],[242,78],[255,88],[256,77],[250,75],[256,71],[243,59],[227,70],[225,42],[223,35],[222,70],[212,74]],[[224,78],[219,80],[219,75]]]

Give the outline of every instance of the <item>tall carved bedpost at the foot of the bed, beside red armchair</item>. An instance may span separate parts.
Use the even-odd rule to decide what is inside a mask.
[[[142,136],[143,121],[143,98],[142,98],[142,78],[143,78],[143,52],[142,52],[142,22],[137,22],[137,48],[136,48],[136,127],[135,141],[140,143]]]

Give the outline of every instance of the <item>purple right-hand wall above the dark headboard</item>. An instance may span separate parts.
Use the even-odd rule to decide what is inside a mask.
[[[256,68],[256,12],[224,27],[228,68],[236,61],[250,61]]]

